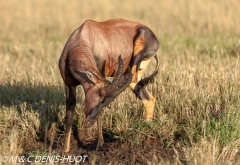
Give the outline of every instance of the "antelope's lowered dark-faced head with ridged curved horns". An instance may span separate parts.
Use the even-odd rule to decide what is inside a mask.
[[[124,91],[132,80],[132,74],[128,67],[127,73],[123,75],[124,64],[121,56],[118,57],[118,71],[112,82],[102,79],[101,87],[98,87],[93,76],[88,76],[92,85],[85,91],[85,120],[84,127],[91,127],[99,115],[102,114],[103,108],[111,103],[122,91]],[[99,80],[98,80],[99,84]]]

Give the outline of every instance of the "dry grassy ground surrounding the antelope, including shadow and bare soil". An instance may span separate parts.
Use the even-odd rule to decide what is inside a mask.
[[[148,86],[157,98],[154,120],[144,121],[127,89],[105,108],[106,143],[95,151],[95,141],[79,142],[79,87],[68,155],[88,155],[83,164],[240,164],[238,0],[8,0],[0,1],[0,16],[0,165],[27,163],[11,156],[62,156],[58,59],[84,20],[116,17],[148,25],[160,41],[159,74]]]

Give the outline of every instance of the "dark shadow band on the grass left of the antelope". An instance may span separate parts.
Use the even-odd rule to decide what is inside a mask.
[[[19,106],[21,103],[65,104],[64,89],[53,85],[0,85],[0,100],[4,106]],[[37,107],[33,106],[33,109]]]

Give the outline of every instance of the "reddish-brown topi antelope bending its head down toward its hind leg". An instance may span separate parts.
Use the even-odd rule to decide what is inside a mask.
[[[154,114],[155,98],[144,87],[157,74],[158,40],[145,25],[124,19],[105,22],[85,21],[69,37],[59,59],[66,87],[66,133],[64,152],[70,149],[70,136],[76,106],[76,86],[85,92],[85,128],[97,120],[97,149],[103,146],[101,114],[128,86],[142,100],[146,120]],[[142,79],[150,59],[157,64],[152,74]],[[112,82],[106,77],[115,77]]]

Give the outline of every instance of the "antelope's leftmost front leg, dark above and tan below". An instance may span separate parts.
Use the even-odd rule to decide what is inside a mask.
[[[73,116],[76,107],[76,87],[66,86],[66,133],[64,140],[64,152],[69,152]]]

